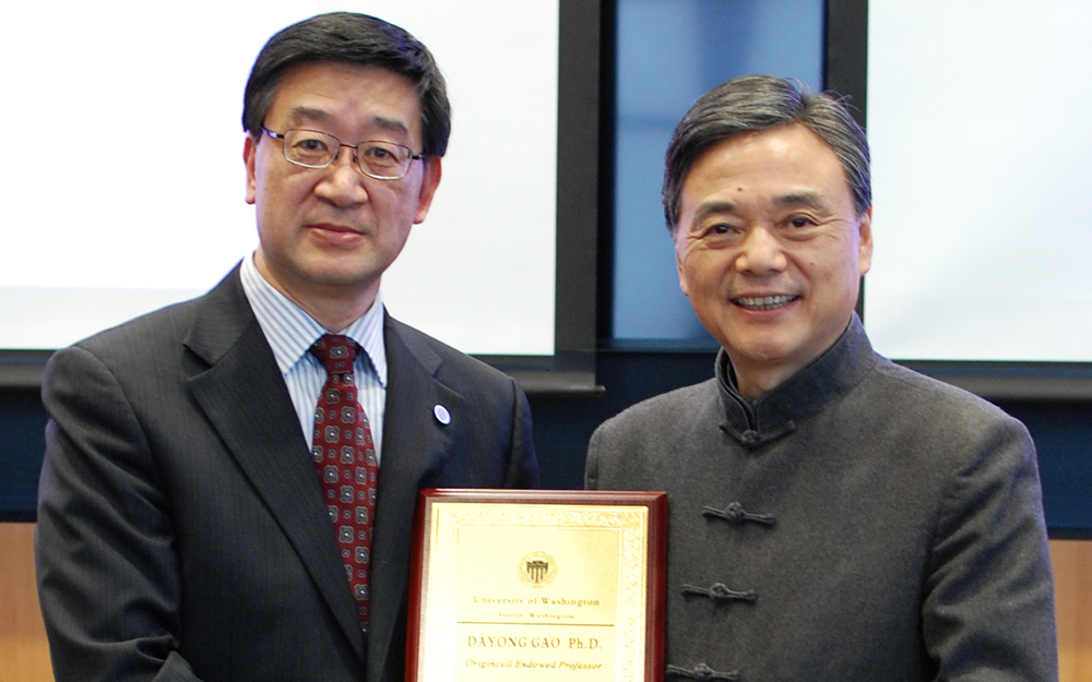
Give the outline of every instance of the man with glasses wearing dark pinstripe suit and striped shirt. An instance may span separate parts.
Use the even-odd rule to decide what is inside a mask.
[[[36,549],[58,680],[401,680],[417,490],[537,482],[519,386],[382,304],[450,131],[425,46],[359,14],[289,26],[244,125],[253,255],[47,368]],[[311,462],[325,333],[363,349],[379,458],[366,633]]]

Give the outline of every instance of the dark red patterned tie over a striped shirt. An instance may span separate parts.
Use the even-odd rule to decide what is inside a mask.
[[[356,599],[360,626],[368,631],[371,528],[376,517],[379,465],[368,417],[356,396],[353,339],[324,334],[311,346],[327,367],[314,410],[311,454],[327,496],[327,510],[337,534],[345,574]]]

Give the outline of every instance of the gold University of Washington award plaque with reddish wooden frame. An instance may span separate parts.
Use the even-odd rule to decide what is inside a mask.
[[[423,490],[406,680],[663,677],[663,492]]]

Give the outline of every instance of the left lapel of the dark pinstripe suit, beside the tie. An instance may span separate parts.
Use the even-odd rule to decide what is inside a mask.
[[[202,302],[186,345],[210,364],[190,379],[194,398],[364,660],[364,637],[327,522],[310,447],[237,270]]]

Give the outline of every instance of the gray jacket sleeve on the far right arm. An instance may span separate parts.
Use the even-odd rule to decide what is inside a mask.
[[[1035,448],[1014,420],[982,431],[940,510],[923,586],[926,647],[941,680],[1057,680]]]

